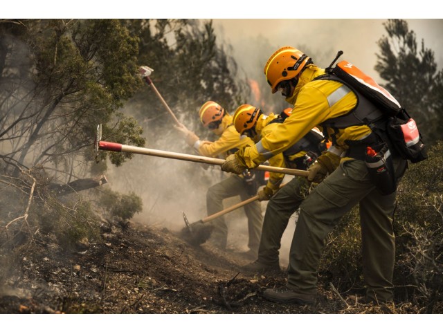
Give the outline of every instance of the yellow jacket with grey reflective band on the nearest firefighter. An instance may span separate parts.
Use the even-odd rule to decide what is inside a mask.
[[[343,116],[356,106],[356,95],[347,86],[334,81],[313,81],[315,77],[324,73],[322,68],[308,66],[300,76],[293,95],[287,98],[287,102],[293,104],[291,116],[278,125],[278,130],[262,135],[262,139],[256,145],[237,152],[247,167],[257,167],[288,149],[314,127],[323,131],[320,126],[322,122]],[[331,133],[332,131],[328,130],[328,134]],[[348,149],[345,140],[361,140],[370,133],[371,129],[366,125],[339,129],[336,133],[335,147],[344,151]]]

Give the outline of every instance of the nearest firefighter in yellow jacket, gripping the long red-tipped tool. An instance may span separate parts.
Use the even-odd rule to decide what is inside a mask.
[[[359,204],[365,300],[390,303],[395,263],[392,217],[397,192],[396,188],[390,194],[381,192],[364,161],[368,146],[389,142],[372,131],[373,124],[340,125],[343,117],[338,117],[365,111],[370,105],[360,104],[357,93],[345,84],[322,80],[323,74],[325,69],[296,48],[284,46],[273,53],[264,66],[264,75],[272,93],[279,91],[293,105],[291,116],[262,136],[260,142],[226,158],[221,169],[238,173],[245,167],[257,167],[291,147],[311,128],[322,130],[333,145],[308,169],[308,181],[319,184],[300,204],[289,252],[287,285],[283,289],[266,289],[263,295],[274,302],[314,304],[325,238],[341,216]],[[396,156],[395,151],[390,156],[392,178],[398,183],[407,161]]]

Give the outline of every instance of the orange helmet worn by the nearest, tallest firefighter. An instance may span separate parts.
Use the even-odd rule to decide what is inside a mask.
[[[310,57],[291,46],[284,46],[275,51],[264,65],[264,75],[272,88],[277,92],[277,85],[296,77],[306,64],[311,63]]]

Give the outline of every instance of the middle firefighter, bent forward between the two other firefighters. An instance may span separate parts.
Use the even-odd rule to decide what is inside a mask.
[[[285,109],[280,115],[265,115],[260,109],[243,104],[234,113],[234,126],[240,135],[245,135],[254,142],[266,136],[287,118],[292,109]],[[325,149],[323,134],[313,129],[283,153],[269,158],[269,164],[275,167],[307,169]],[[243,270],[253,273],[279,273],[279,253],[281,239],[290,216],[298,210],[300,203],[308,193],[309,185],[305,177],[294,176],[279,190],[284,174],[269,174],[266,186],[258,192],[259,201],[269,201],[264,214],[262,235],[258,249],[258,258]]]

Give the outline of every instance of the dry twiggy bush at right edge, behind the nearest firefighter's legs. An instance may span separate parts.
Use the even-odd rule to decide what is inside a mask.
[[[403,299],[426,313],[443,312],[443,142],[428,159],[410,165],[399,187],[395,283]],[[412,286],[408,286],[412,285]],[[403,288],[403,289],[401,289]],[[440,302],[440,307],[435,306]]]

